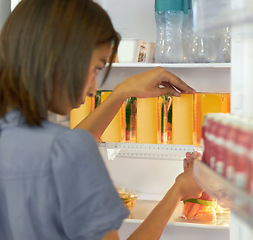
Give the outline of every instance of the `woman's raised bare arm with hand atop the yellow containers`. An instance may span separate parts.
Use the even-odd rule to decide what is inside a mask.
[[[118,84],[112,94],[76,128],[88,130],[98,140],[127,98],[158,97],[165,94],[180,96],[180,92],[195,93],[195,90],[163,68],[154,68]]]

